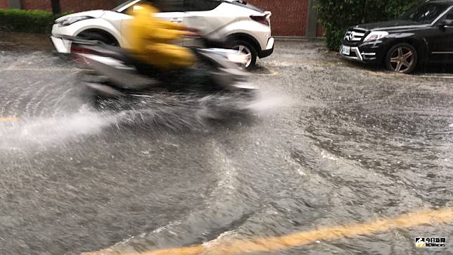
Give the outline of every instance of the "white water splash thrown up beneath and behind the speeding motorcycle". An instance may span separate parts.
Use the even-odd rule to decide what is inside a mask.
[[[285,101],[276,97],[250,99],[243,94],[156,93],[134,100],[105,100],[96,107],[79,106],[75,113],[56,111],[50,117],[20,118],[15,123],[0,123],[0,147],[13,148],[20,144],[65,142],[103,129],[121,129],[127,125],[155,130],[200,130],[208,128],[210,120],[250,120],[256,112],[275,108]]]

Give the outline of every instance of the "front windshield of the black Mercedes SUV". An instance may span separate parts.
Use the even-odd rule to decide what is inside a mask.
[[[411,20],[418,23],[429,24],[439,17],[449,8],[450,4],[446,3],[427,3],[411,8],[404,13],[400,20]]]

